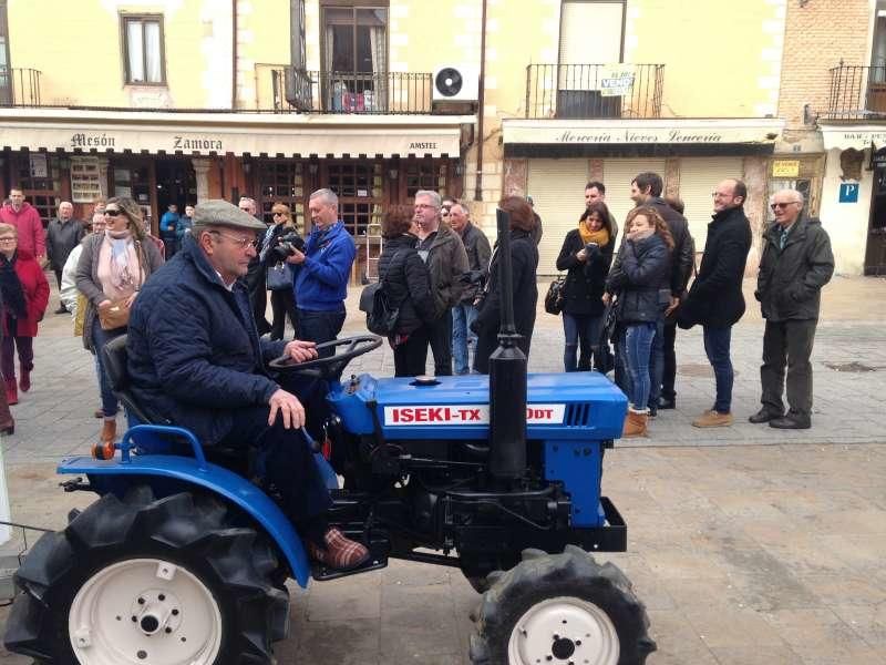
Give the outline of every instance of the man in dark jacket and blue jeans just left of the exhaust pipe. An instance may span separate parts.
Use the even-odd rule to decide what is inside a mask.
[[[462,299],[452,308],[452,356],[455,360],[455,374],[465,375],[471,371],[467,347],[468,342],[476,351],[477,336],[471,330],[471,324],[477,318],[474,300],[483,289],[483,283],[490,274],[490,256],[492,248],[486,234],[471,224],[471,216],[464,204],[455,203],[450,209],[450,224],[459,234],[467,253],[470,272],[465,276]]]

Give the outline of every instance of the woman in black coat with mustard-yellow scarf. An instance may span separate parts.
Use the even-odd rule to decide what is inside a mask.
[[[578,228],[567,233],[563,242],[557,269],[568,270],[563,300],[563,330],[566,337],[563,365],[566,371],[590,369],[591,355],[595,366],[600,367],[599,341],[605,309],[602,294],[614,247],[615,234],[609,211],[604,203],[588,206],[578,221]],[[588,364],[586,367],[576,365],[579,341],[581,360]]]

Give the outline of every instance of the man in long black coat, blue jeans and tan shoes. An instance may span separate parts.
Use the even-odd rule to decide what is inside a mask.
[[[743,208],[746,198],[748,186],[740,180],[727,178],[717,185],[701,267],[678,314],[681,328],[701,324],[704,352],[717,381],[713,408],[692,421],[696,427],[724,427],[733,421],[729,349],[732,326],[744,314],[741,283],[751,249],[751,223]]]

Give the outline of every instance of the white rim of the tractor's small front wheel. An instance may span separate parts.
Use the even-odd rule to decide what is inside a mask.
[[[617,665],[618,656],[618,634],[606,612],[571,596],[529,607],[507,644],[511,665]]]

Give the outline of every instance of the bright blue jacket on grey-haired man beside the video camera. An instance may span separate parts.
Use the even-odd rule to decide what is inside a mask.
[[[343,310],[351,266],[357,256],[353,237],[344,224],[336,222],[323,231],[315,227],[305,245],[305,262],[296,267],[299,309]]]

